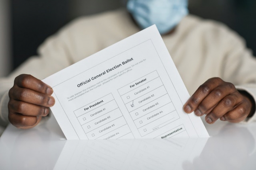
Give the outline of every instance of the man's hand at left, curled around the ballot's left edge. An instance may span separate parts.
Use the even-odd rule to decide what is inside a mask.
[[[9,121],[18,128],[35,127],[55,104],[53,90],[32,75],[19,75],[9,90]]]

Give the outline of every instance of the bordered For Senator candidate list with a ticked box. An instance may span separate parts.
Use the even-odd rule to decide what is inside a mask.
[[[156,70],[118,92],[141,137],[180,119]]]

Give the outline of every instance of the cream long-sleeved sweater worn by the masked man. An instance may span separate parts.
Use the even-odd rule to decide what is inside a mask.
[[[39,47],[38,56],[0,79],[0,124],[8,123],[8,90],[17,75],[46,78],[139,31],[122,9],[81,17],[62,28]],[[207,79],[220,77],[256,98],[256,58],[226,26],[188,15],[163,40],[190,95]],[[254,119],[256,114],[247,121]]]

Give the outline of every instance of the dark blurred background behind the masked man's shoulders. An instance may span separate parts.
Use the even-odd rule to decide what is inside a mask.
[[[76,17],[124,7],[125,0],[0,0],[0,77]],[[256,0],[189,0],[189,12],[239,33],[256,56]]]

